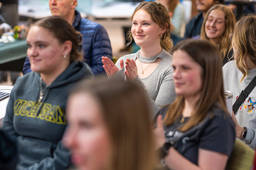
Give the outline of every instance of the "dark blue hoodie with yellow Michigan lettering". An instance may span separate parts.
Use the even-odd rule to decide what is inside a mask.
[[[61,144],[67,126],[68,91],[77,81],[92,78],[87,64],[74,61],[49,85],[40,103],[40,74],[31,72],[17,79],[1,127],[16,137],[17,170],[65,170],[70,166],[70,153]]]

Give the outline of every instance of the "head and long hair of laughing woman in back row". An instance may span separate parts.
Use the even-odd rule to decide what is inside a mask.
[[[218,4],[207,11],[202,25],[201,38],[217,45],[221,53],[222,65],[226,64],[233,54],[232,50],[228,53],[231,42],[227,35],[233,32],[235,23],[233,11],[226,5]]]

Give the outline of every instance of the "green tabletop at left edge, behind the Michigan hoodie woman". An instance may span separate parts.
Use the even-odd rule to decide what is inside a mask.
[[[25,58],[27,48],[26,40],[0,45],[0,64]]]

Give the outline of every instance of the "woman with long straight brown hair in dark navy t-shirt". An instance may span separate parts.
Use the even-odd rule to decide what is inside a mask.
[[[158,112],[154,130],[161,163],[172,170],[224,170],[235,126],[225,105],[218,49],[207,40],[184,40],[173,51],[178,96]]]

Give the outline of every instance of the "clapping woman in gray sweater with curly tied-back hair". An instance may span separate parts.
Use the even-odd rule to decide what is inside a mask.
[[[108,77],[126,79],[144,88],[151,102],[151,113],[155,114],[160,106],[176,98],[169,13],[160,3],[143,2],[137,6],[131,20],[133,24],[128,36],[141,47],[140,51],[119,58],[116,65],[108,57],[102,57],[103,68]]]

